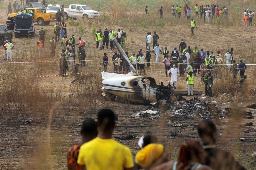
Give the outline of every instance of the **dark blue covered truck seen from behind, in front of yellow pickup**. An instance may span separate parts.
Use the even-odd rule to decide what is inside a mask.
[[[20,35],[35,35],[35,25],[31,14],[18,14],[15,16],[14,36],[19,38]]]

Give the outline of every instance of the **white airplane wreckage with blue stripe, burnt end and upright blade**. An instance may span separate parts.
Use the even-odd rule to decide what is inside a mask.
[[[171,95],[173,95],[173,87],[170,83],[167,86],[164,86],[163,82],[160,85],[156,85],[154,78],[138,76],[135,68],[130,63],[130,59],[124,53],[116,38],[113,41],[124,59],[126,67],[131,72],[126,75],[101,72],[103,79],[102,94],[105,95],[105,92],[108,92],[124,100],[142,104],[155,103],[159,100],[170,100]]]

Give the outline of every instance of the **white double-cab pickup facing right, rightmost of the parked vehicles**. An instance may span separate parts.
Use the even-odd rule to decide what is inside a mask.
[[[69,8],[64,8],[66,19],[70,18],[98,18],[100,17],[100,12],[92,10],[89,6],[70,4]]]

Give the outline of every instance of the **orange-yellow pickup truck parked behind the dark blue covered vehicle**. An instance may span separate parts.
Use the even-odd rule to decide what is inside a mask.
[[[11,22],[14,21],[14,17],[21,13],[23,10],[19,11],[18,13],[11,13],[8,16],[8,20],[11,20]],[[37,22],[38,25],[49,25],[50,21],[54,21],[56,19],[55,13],[43,13],[43,9],[41,8],[26,8],[27,13],[32,14],[33,21]]]

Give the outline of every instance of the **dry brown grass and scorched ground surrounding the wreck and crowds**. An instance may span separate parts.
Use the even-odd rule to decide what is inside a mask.
[[[124,3],[124,1],[122,1]],[[246,2],[244,2],[246,5]],[[170,5],[169,3],[167,3]],[[210,3],[209,3],[210,4]],[[6,10],[6,2],[3,5]],[[247,4],[248,5],[248,4]],[[67,5],[66,5],[67,6]],[[97,10],[97,9],[95,9]],[[116,14],[113,11],[117,11]],[[256,26],[244,29],[241,20],[242,14],[237,14],[235,9],[230,10],[230,18],[221,18],[221,26],[218,29],[216,21],[211,24],[204,24],[201,19],[196,18],[198,28],[195,29],[195,36],[191,36],[189,22],[166,14],[164,16],[165,25],[156,26],[158,14],[144,18],[142,12],[120,12],[122,10],[111,9],[102,11],[100,18],[92,20],[78,19],[80,26],[69,26],[67,23],[68,38],[75,35],[76,41],[82,34],[86,41],[86,60],[102,60],[104,52],[108,53],[109,61],[113,55],[110,49],[96,49],[95,38],[92,36],[93,28],[108,30],[123,28],[127,33],[125,50],[129,54],[137,53],[140,48],[146,51],[145,36],[147,32],[157,32],[160,39],[160,47],[166,46],[169,51],[174,47],[179,47],[181,39],[192,49],[197,46],[205,51],[221,50],[224,55],[226,50],[234,48],[234,58],[238,62],[243,59],[245,63],[256,63]],[[243,10],[242,10],[243,11]],[[194,12],[192,12],[194,15]],[[120,16],[119,17],[115,17]],[[236,18],[236,19],[234,19]],[[6,13],[0,13],[0,23],[5,24]],[[147,26],[141,26],[145,21]],[[128,140],[118,140],[127,145],[133,156],[138,151],[138,137],[152,133],[157,136],[159,141],[170,150],[170,158],[177,159],[180,145],[187,140],[200,140],[196,126],[202,120],[201,117],[177,116],[162,114],[160,118],[128,118],[137,111],[146,109],[147,105],[129,103],[125,101],[112,101],[101,96],[101,73],[103,70],[102,62],[86,62],[86,67],[80,69],[86,76],[84,84],[71,84],[74,76],[68,77],[46,77],[46,78],[20,78],[58,74],[58,62],[61,47],[57,45],[57,52],[54,58],[50,57],[49,44],[54,35],[51,22],[47,29],[45,51],[46,55],[39,58],[37,54],[36,42],[39,38],[41,26],[36,25],[36,35],[33,38],[21,37],[13,38],[13,62],[24,61],[54,61],[47,63],[17,63],[0,64],[0,169],[66,169],[66,152],[69,147],[80,143],[81,123],[85,118],[96,118],[97,112],[108,107],[119,114],[116,122],[114,137],[133,135],[135,138]],[[14,35],[14,33],[13,33]],[[76,47],[77,49],[78,47]],[[153,53],[152,62],[155,62]],[[1,47],[0,61],[3,63],[4,50]],[[160,61],[163,60],[161,56]],[[256,66],[248,65],[246,70],[247,81],[242,90],[238,88],[239,75],[236,81],[225,66],[220,67],[218,78],[214,80],[213,98],[202,99],[209,102],[216,101],[216,106],[224,109],[225,107],[241,107],[256,100]],[[151,64],[150,69],[157,71],[146,71],[146,76],[156,79],[157,83],[167,84],[163,64]],[[160,71],[161,70],[161,71]],[[109,63],[108,71],[112,72],[112,63]],[[72,72],[67,72],[72,73]],[[186,79],[179,77],[177,82],[176,94],[187,94]],[[196,94],[204,93],[204,85],[199,76],[195,77]],[[239,90],[239,91],[238,91]],[[188,96],[185,98],[189,99]],[[247,169],[255,169],[256,160],[251,157],[252,151],[256,150],[256,121],[255,109],[244,108],[247,112],[252,112],[250,119],[245,119],[241,115],[232,115],[220,118],[213,113],[212,120],[218,127],[217,146],[232,152],[236,159]],[[30,120],[31,124],[25,125],[23,120]],[[171,121],[169,121],[171,120]],[[241,126],[244,123],[253,122],[252,126]],[[176,127],[176,123],[188,124],[189,126]],[[173,133],[182,135],[173,136]],[[136,137],[137,136],[137,137]],[[245,138],[245,142],[239,141]]]

